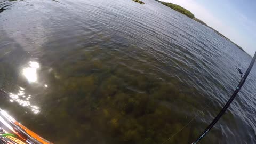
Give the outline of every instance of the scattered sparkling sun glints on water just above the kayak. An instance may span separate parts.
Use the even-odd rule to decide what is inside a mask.
[[[17,94],[14,93],[9,93],[9,97],[11,98],[11,102],[18,102],[19,105],[23,106],[23,107],[28,107],[30,108],[35,114],[38,114],[40,112],[40,108],[35,106],[35,105],[31,105],[29,99],[31,98],[31,95],[26,95],[24,92],[24,88],[20,87],[20,90]]]

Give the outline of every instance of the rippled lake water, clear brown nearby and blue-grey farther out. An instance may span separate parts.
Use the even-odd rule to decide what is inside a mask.
[[[0,107],[54,143],[196,139],[251,57],[157,3],[0,1]],[[201,143],[255,143],[256,68]]]

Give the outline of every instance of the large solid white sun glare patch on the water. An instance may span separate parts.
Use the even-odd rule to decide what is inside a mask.
[[[22,73],[27,78],[28,82],[37,81],[37,69],[39,67],[38,62],[29,61],[29,67],[23,69]]]

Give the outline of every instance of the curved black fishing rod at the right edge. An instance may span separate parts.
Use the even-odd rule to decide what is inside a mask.
[[[254,62],[256,60],[256,52],[254,54],[254,57],[252,58],[252,61],[250,63],[250,66],[248,67],[248,69],[246,70],[246,73],[244,74],[243,78],[241,79],[241,81],[239,82],[238,86],[236,87],[235,92],[233,93],[233,95],[231,96],[231,98],[228,100],[228,102],[226,103],[226,105],[221,109],[220,113],[213,119],[212,123],[204,130],[204,132],[202,132],[199,137],[196,139],[196,141],[194,141],[192,144],[196,144],[198,143],[201,139],[204,138],[204,136],[212,129],[212,127],[214,126],[215,123],[218,122],[218,120],[220,119],[220,117],[225,113],[225,111],[228,109],[229,105],[231,104],[231,102],[235,99],[237,93],[241,90],[242,86],[244,85],[244,82],[247,78],[247,76],[249,75]],[[241,71],[240,69],[238,71]],[[242,73],[242,71],[241,71]],[[241,74],[240,73],[240,74]],[[241,74],[242,76],[242,74]]]

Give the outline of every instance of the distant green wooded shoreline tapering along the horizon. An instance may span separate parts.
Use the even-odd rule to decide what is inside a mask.
[[[226,36],[222,35],[219,31],[217,31],[217,30],[213,29],[212,27],[208,26],[208,25],[207,25],[205,22],[203,22],[202,20],[196,18],[193,13],[191,13],[189,10],[183,8],[182,6],[177,5],[177,4],[173,4],[173,3],[162,2],[162,1],[159,1],[159,0],[155,0],[155,1],[157,1],[157,2],[159,2],[159,3],[161,3],[161,4],[163,4],[163,5],[165,5],[165,6],[167,6],[167,7],[170,7],[171,9],[173,9],[173,10],[175,10],[175,11],[178,11],[178,12],[180,12],[180,13],[186,15],[187,17],[189,17],[189,18],[191,18],[191,19],[193,19],[193,20],[195,20],[195,21],[201,23],[202,25],[205,25],[206,27],[209,27],[209,28],[212,29],[216,34],[218,34],[218,35],[220,35],[221,37],[227,39],[229,42],[231,42],[231,43],[233,43],[235,46],[237,46],[240,50],[242,50],[243,52],[245,52],[244,49],[243,49],[241,46],[237,45],[236,43],[234,43],[233,41],[231,41],[230,39],[228,39]],[[245,52],[245,53],[248,54],[247,52]],[[250,55],[250,54],[248,54],[248,55]],[[250,55],[250,57],[251,57],[251,55]]]

